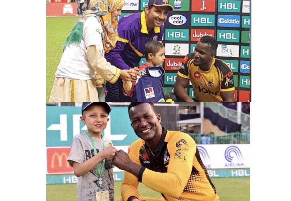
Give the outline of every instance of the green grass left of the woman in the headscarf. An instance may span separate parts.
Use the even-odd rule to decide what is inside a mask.
[[[47,17],[47,101],[54,74],[63,53],[63,43],[79,17]]]

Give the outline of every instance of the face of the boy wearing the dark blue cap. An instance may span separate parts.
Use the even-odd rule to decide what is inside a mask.
[[[91,105],[83,112],[81,120],[86,124],[88,131],[93,134],[101,134],[109,121],[107,111],[103,106]]]

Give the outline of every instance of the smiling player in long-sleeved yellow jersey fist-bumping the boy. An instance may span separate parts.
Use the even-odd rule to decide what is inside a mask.
[[[126,171],[121,186],[123,201],[219,201],[196,143],[188,134],[162,127],[153,103],[131,103],[128,112],[140,139],[132,143],[128,155],[120,150],[112,161]],[[162,198],[139,197],[139,182],[161,193]]]

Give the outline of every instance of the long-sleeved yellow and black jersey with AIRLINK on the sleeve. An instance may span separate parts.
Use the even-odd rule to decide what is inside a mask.
[[[125,172],[121,195],[139,198],[139,182],[160,192],[164,200],[218,201],[219,196],[203,165],[195,141],[186,133],[163,128],[158,147],[151,151],[141,139],[129,149],[129,158],[141,166],[139,178]]]

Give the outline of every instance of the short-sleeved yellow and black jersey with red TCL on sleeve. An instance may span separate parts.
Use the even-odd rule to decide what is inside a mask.
[[[185,56],[178,75],[190,79],[195,99],[199,102],[222,102],[220,92],[235,90],[233,73],[222,60],[213,58],[208,71],[193,64],[193,53]]]

